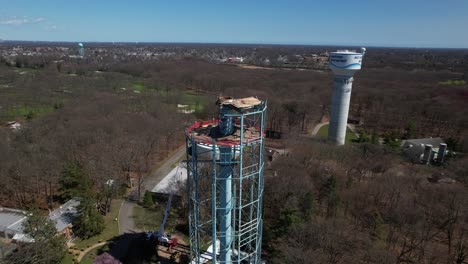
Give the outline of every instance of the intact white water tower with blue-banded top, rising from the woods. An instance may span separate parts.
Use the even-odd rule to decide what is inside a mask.
[[[360,53],[348,50],[330,53],[329,67],[335,76],[328,139],[337,145],[345,143],[353,75],[361,69],[365,51],[365,48],[361,48]]]

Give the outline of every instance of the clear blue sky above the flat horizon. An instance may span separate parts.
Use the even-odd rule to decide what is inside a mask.
[[[0,0],[0,39],[468,48],[468,0]]]

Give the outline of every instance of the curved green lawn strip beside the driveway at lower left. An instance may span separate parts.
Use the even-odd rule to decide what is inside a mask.
[[[104,217],[106,227],[104,228],[104,231],[102,231],[100,235],[97,235],[97,236],[94,236],[85,240],[77,238],[74,241],[75,246],[80,249],[86,249],[96,243],[106,241],[115,236],[118,236],[119,235],[119,223],[118,221],[115,221],[115,219],[119,217],[119,209],[120,209],[121,203],[122,203],[122,200],[120,199],[115,199],[112,201],[111,211]]]

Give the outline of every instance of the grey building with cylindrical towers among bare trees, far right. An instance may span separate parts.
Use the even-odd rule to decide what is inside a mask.
[[[414,163],[442,163],[447,144],[441,138],[408,139],[401,142],[405,156]]]

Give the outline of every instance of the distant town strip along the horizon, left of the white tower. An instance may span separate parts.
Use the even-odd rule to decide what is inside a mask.
[[[3,42],[0,55],[9,63],[15,63],[18,56],[50,56],[59,60],[80,58],[77,43],[15,43]],[[254,45],[206,45],[206,44],[151,44],[151,43],[85,43],[86,61],[129,61],[161,60],[186,56],[202,58],[214,63],[257,65],[264,67],[326,69],[328,51],[307,53],[307,48],[297,51],[284,48],[281,52],[274,46]]]

